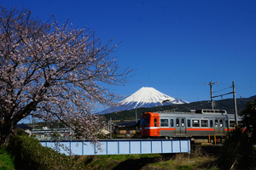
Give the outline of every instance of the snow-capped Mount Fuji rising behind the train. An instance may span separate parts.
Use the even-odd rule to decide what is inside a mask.
[[[168,102],[167,102],[168,101]],[[158,105],[178,105],[187,104],[189,102],[183,99],[175,99],[154,88],[140,88],[136,93],[119,102],[116,107],[105,109],[97,114],[106,114],[116,111],[129,111],[140,107],[155,107]]]

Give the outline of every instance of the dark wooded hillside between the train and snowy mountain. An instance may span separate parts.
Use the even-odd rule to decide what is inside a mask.
[[[256,95],[250,98],[241,98],[236,99],[237,113],[240,114],[245,108],[245,104],[250,99],[256,99]],[[215,100],[214,109],[217,110],[226,110],[228,113],[234,113],[234,101],[233,99],[221,99]],[[147,111],[190,111],[190,110],[199,110],[199,109],[212,109],[211,101],[197,101],[189,104],[179,104],[179,105],[164,105],[160,107],[150,107],[150,108],[138,108],[137,117],[140,118],[140,115],[143,112]],[[118,111],[113,113],[105,114],[106,118],[109,120],[112,117],[112,120],[134,120],[136,115],[136,110],[131,111]]]

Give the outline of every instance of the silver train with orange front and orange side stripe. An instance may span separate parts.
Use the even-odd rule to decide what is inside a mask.
[[[241,116],[237,120],[242,126]],[[210,136],[222,139],[234,129],[235,116],[224,110],[145,112],[140,121],[141,138],[190,138],[195,143]]]

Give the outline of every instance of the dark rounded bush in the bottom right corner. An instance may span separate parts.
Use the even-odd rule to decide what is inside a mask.
[[[253,144],[249,142],[247,133],[236,128],[229,138],[225,139],[219,156],[219,165],[228,169],[249,169],[255,166]]]

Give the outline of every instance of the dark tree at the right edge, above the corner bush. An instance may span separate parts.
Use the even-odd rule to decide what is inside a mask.
[[[256,99],[247,102],[245,109],[242,111],[243,120],[247,127],[246,131],[250,133],[252,142],[256,142]]]

